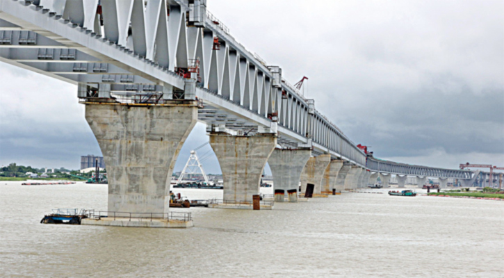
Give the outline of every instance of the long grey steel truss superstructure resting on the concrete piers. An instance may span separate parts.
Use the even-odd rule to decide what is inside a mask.
[[[210,131],[277,133],[282,147],[309,147],[372,172],[473,174],[367,156],[280,67],[237,42],[206,0],[1,0],[0,59],[79,85],[80,98],[197,98]]]

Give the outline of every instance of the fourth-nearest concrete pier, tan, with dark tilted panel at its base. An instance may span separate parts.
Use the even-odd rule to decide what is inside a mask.
[[[301,191],[303,193],[307,190],[307,183],[313,183],[315,185],[314,188],[314,197],[321,195],[321,183],[322,178],[327,168],[327,165],[331,162],[330,154],[320,154],[320,156],[310,157],[304,165],[304,169],[301,174]]]

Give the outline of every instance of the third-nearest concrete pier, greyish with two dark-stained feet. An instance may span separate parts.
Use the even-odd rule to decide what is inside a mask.
[[[288,190],[298,192],[301,172],[310,156],[311,149],[273,150],[270,158],[268,158],[268,165],[270,165],[273,174],[275,202],[284,202],[284,194]],[[284,190],[284,194],[277,193],[277,190]],[[288,200],[289,202],[298,202],[298,194],[289,195]]]

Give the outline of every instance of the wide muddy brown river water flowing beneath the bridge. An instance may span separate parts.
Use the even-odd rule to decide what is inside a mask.
[[[106,185],[2,181],[0,277],[504,277],[504,202],[344,193],[273,211],[177,208],[190,229],[39,224],[106,200]]]

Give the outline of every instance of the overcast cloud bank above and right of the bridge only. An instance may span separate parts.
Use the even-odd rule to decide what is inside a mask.
[[[457,167],[432,150],[504,155],[504,2],[269,3],[209,9],[291,83],[308,76],[316,108],[376,156],[440,154],[439,165]],[[272,20],[236,17],[245,11]]]

